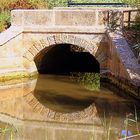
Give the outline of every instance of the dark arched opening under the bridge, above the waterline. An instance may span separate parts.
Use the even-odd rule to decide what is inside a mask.
[[[70,74],[71,72],[100,72],[99,62],[83,48],[71,44],[57,44],[42,50],[35,58],[40,74]]]

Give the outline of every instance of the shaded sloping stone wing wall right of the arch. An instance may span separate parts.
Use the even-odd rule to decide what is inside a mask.
[[[109,70],[105,77],[110,84],[123,89],[124,93],[129,93],[137,98],[140,94],[140,64],[134,56],[122,33],[108,32],[110,41],[111,59]]]

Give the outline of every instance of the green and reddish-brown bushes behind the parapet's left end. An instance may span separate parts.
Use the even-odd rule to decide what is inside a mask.
[[[13,9],[47,8],[45,0],[0,0],[0,32],[10,26],[10,11]]]

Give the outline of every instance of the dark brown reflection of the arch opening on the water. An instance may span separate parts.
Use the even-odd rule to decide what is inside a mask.
[[[34,97],[43,106],[56,112],[72,113],[84,110],[93,103],[91,91],[71,76],[39,75]]]

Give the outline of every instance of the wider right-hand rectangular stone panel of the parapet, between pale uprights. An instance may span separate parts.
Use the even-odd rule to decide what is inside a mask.
[[[95,25],[95,11],[55,11],[55,25],[63,26],[93,26]]]

